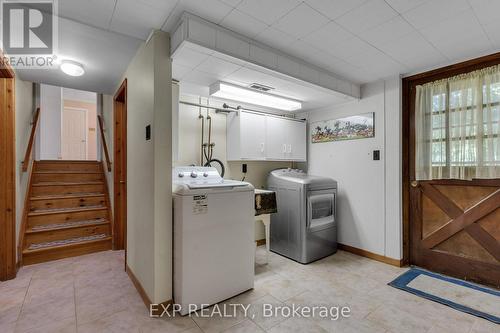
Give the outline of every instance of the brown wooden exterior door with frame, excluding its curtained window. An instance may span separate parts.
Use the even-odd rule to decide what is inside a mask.
[[[416,181],[416,86],[497,65],[500,53],[403,79],[405,261],[500,286],[500,179]],[[448,159],[449,160],[449,159]]]

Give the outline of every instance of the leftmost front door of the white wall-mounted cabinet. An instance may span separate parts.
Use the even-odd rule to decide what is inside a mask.
[[[240,112],[240,158],[262,160],[266,157],[266,117]]]

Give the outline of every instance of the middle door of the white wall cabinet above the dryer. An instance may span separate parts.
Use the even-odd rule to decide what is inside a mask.
[[[266,117],[266,157],[269,160],[286,159],[286,131],[288,120]]]

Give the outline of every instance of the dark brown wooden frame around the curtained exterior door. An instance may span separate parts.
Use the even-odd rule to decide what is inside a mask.
[[[411,263],[410,226],[414,223],[411,216],[411,182],[415,181],[415,89],[417,85],[445,79],[486,67],[500,64],[500,52],[467,60],[450,66],[403,78],[402,82],[402,130],[403,130],[403,264]]]

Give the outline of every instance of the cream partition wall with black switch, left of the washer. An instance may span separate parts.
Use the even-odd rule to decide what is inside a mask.
[[[172,299],[169,42],[167,33],[155,32],[140,47],[123,77],[128,85],[127,265],[154,303]],[[111,142],[111,97],[105,96],[103,110]],[[148,124],[152,137],[146,141]],[[112,179],[112,174],[108,176]]]

